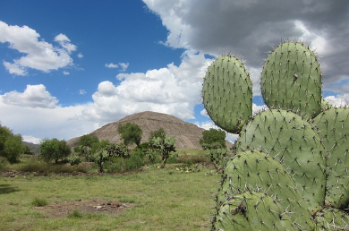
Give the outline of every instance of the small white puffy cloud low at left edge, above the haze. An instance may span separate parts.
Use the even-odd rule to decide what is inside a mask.
[[[58,99],[51,96],[43,84],[27,85],[22,93],[16,90],[4,93],[0,99],[4,104],[21,107],[53,108],[58,103]]]

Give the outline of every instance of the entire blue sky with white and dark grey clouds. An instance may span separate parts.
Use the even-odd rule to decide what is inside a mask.
[[[0,122],[25,141],[65,139],[141,111],[209,128],[200,89],[216,56],[259,78],[284,39],[319,56],[323,97],[349,101],[347,0],[0,0]]]

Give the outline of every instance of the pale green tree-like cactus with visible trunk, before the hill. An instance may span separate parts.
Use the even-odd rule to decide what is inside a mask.
[[[167,159],[170,157],[171,151],[175,151],[174,136],[166,136],[163,128],[150,133],[149,143],[154,150],[161,153],[162,163],[161,168],[165,167]]]

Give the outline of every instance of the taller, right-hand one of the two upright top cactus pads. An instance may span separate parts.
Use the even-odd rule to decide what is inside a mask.
[[[278,46],[266,60],[261,92],[269,108],[282,108],[300,116],[316,116],[321,107],[321,71],[317,57],[299,42]]]

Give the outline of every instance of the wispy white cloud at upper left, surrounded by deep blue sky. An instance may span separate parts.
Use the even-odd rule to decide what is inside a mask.
[[[12,62],[3,62],[9,73],[26,75],[28,68],[48,73],[72,65],[70,54],[76,46],[66,35],[55,37],[57,47],[39,38],[38,32],[28,26],[12,26],[0,21],[0,42],[8,43],[10,48],[25,54]]]

